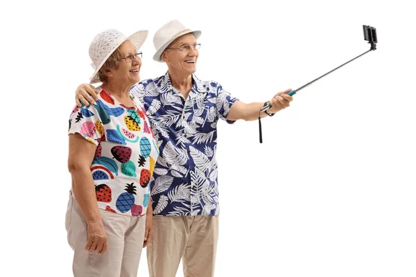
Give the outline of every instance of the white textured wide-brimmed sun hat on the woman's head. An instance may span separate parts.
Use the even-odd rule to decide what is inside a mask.
[[[141,45],[143,45],[146,37],[148,35],[147,30],[139,30],[130,37],[126,37],[119,30],[105,30],[102,33],[99,33],[94,37],[92,43],[89,45],[89,57],[92,60],[92,67],[95,69],[94,74],[92,74],[91,84],[96,82],[101,82],[98,78],[98,71],[101,69],[101,66],[107,61],[108,57],[116,51],[116,48],[119,47],[126,40],[136,46],[137,51]]]

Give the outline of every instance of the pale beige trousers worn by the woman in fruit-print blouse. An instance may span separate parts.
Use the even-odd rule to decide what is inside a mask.
[[[85,250],[87,222],[76,199],[69,198],[65,224],[68,242],[74,251],[73,276],[137,277],[146,215],[132,217],[104,210],[100,213],[108,238],[108,248],[103,255]]]

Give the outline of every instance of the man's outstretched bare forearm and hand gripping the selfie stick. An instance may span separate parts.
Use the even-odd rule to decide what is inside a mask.
[[[277,111],[281,111],[282,109],[289,107],[293,97],[288,96],[287,93],[291,90],[292,89],[286,89],[286,91],[280,91],[273,96],[273,98],[269,101],[269,104],[272,105],[272,107],[267,110],[268,114],[274,114]],[[260,111],[263,106],[264,102],[252,102],[250,104],[246,104],[244,102],[237,101],[229,109],[227,120],[244,119],[246,121],[250,121],[257,120],[259,116],[261,118],[266,117],[268,115]]]

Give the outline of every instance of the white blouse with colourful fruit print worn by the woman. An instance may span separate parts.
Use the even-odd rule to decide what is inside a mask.
[[[144,107],[126,107],[103,87],[95,105],[73,109],[69,134],[94,143],[91,165],[98,207],[113,213],[142,216],[150,198],[149,180],[159,149]]]

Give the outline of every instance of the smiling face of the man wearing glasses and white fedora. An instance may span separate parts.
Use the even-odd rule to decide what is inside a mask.
[[[195,44],[196,39],[191,33],[182,35],[169,44],[162,54],[162,60],[168,65],[169,71],[176,71],[176,73],[184,75],[191,75],[196,71],[199,52],[192,46]],[[191,46],[189,47],[189,45]],[[189,48],[189,50],[180,50],[181,47]]]

